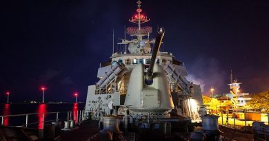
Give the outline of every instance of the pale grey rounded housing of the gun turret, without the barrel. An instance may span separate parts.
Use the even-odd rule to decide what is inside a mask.
[[[124,105],[130,105],[131,116],[150,112],[157,113],[158,118],[169,118],[168,112],[174,104],[166,73],[159,64],[155,64],[153,72],[158,75],[153,77],[152,85],[145,85],[143,72],[142,64],[132,70]]]

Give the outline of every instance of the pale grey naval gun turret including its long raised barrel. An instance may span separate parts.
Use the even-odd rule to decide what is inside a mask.
[[[148,70],[140,63],[130,74],[124,105],[130,105],[132,116],[147,114],[157,118],[169,118],[169,112],[174,108],[166,72],[161,65],[155,63],[163,35],[164,30],[160,28]]]

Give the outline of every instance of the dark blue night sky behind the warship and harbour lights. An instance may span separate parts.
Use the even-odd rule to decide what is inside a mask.
[[[85,102],[99,63],[124,38],[136,0],[30,0],[0,3],[0,102]],[[269,1],[142,1],[155,38],[166,29],[161,51],[183,61],[203,94],[228,93],[230,69],[243,92],[269,89]],[[130,36],[127,36],[130,38]],[[116,45],[120,52],[122,46]]]

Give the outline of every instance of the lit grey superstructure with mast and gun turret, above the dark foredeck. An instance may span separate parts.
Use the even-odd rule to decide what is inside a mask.
[[[108,103],[112,101],[114,115],[129,111],[133,118],[145,114],[170,118],[171,111],[176,111],[180,116],[199,118],[200,86],[186,79],[186,67],[172,53],[159,52],[161,40],[150,39],[152,28],[141,26],[150,21],[142,14],[141,1],[137,1],[137,14],[129,21],[138,25],[126,28],[133,39],[118,43],[128,46],[128,50],[113,52],[109,62],[101,63],[99,81],[88,87],[85,109],[89,116],[108,114]],[[163,34],[164,30],[159,29],[161,39]]]

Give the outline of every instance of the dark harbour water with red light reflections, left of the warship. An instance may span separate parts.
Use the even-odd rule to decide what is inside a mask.
[[[72,111],[72,119],[78,120],[79,110],[83,110],[84,103],[61,103],[61,104],[0,104],[0,117],[7,115],[17,115],[25,113],[49,113],[59,111],[60,121],[67,120],[68,111]],[[56,113],[44,114],[44,121],[56,120]],[[2,120],[2,119],[1,119]],[[41,128],[43,114],[33,114],[28,116],[28,127]],[[34,123],[34,124],[31,124]],[[21,126],[26,124],[26,115],[4,117],[3,125]],[[46,122],[45,122],[46,124]]]

